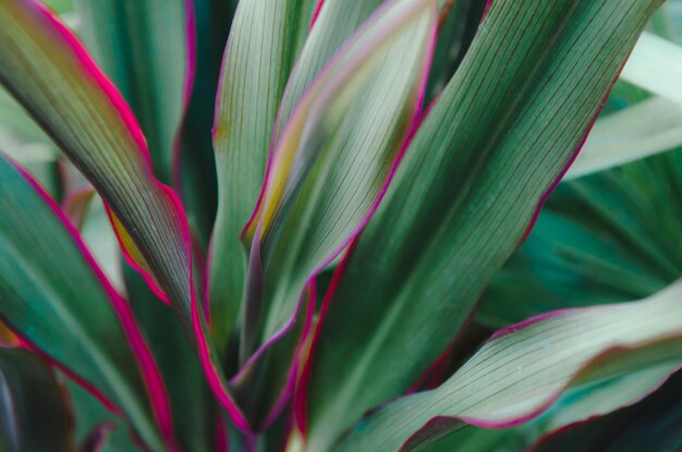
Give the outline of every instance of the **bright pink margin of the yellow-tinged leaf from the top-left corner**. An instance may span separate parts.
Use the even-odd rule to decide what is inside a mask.
[[[83,73],[86,74],[92,81],[96,83],[96,85],[101,89],[101,91],[107,96],[111,105],[115,108],[119,113],[120,119],[126,125],[126,129],[134,142],[136,143],[136,149],[133,152],[129,152],[127,157],[133,159],[133,161],[143,169],[143,173],[147,175],[147,182],[156,190],[159,190],[160,193],[165,196],[166,205],[159,206],[159,208],[167,207],[173,218],[175,219],[175,227],[178,231],[172,231],[179,233],[182,237],[183,249],[182,254],[185,258],[186,268],[190,269],[188,274],[186,274],[185,281],[187,284],[188,293],[191,293],[191,300],[178,300],[173,301],[179,304],[190,303],[191,305],[191,321],[195,333],[195,339],[197,343],[197,352],[199,359],[202,362],[202,366],[205,370],[208,383],[210,388],[216,393],[220,403],[226,407],[228,413],[230,414],[233,423],[241,429],[248,430],[248,424],[246,418],[241,413],[240,408],[236,406],[235,402],[230,394],[230,391],[227,387],[226,380],[222,375],[222,369],[220,369],[219,365],[216,361],[214,361],[212,356],[212,346],[208,342],[207,331],[205,325],[205,318],[203,317],[202,306],[198,303],[193,276],[192,276],[192,241],[190,234],[190,228],[187,224],[186,216],[184,213],[183,206],[175,194],[175,192],[161,184],[155,176],[151,170],[151,162],[149,159],[149,150],[147,148],[147,144],[145,137],[142,133],[139,124],[132,113],[130,107],[126,105],[125,100],[118,91],[118,89],[113,86],[113,84],[107,78],[107,76],[99,70],[96,65],[92,57],[87,53],[84,46],[78,41],[78,39],[74,36],[74,34],[64,26],[58,17],[56,17],[47,8],[42,7],[39,3],[36,3],[33,0],[23,0],[23,4],[36,13],[39,17],[42,17],[46,21],[46,28],[54,32],[57,37],[61,39],[62,45],[68,51],[72,52],[73,56],[76,57],[78,63],[81,64],[81,69]],[[188,29],[192,29],[194,25],[193,20],[188,21]],[[190,52],[192,54],[192,52]],[[194,57],[192,57],[194,58]],[[119,231],[120,233],[120,231]],[[120,236],[119,236],[120,237]],[[126,259],[131,262],[134,262],[133,257],[130,254],[130,249],[127,249],[123,244],[122,248],[124,255],[126,255]],[[158,295],[161,295],[162,300],[167,300],[163,294],[163,291],[155,283],[155,278],[148,273],[148,271],[143,268],[138,262],[134,262],[134,268],[138,270],[144,277],[145,280],[150,283],[150,288],[155,290]]]

